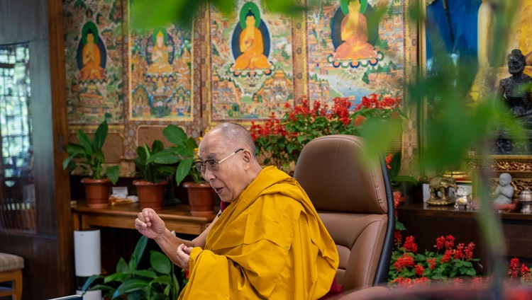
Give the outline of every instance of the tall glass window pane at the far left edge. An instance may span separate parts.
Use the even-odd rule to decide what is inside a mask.
[[[35,232],[28,44],[0,45],[0,230]]]

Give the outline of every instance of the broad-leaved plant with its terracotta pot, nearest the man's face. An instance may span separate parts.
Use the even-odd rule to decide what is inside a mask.
[[[168,125],[162,134],[172,143],[172,146],[152,156],[151,160],[157,163],[175,163],[179,161],[175,173],[176,184],[182,183],[189,175],[192,182],[183,183],[189,196],[190,213],[193,216],[210,216],[214,214],[214,190],[209,183],[202,180],[199,171],[192,166],[196,159],[198,145],[193,137],[176,125]]]

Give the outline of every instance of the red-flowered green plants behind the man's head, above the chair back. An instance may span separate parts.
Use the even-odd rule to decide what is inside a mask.
[[[398,119],[401,114],[401,98],[382,97],[375,93],[362,97],[355,105],[348,98],[333,98],[333,107],[314,101],[312,108],[306,97],[278,119],[274,114],[262,125],[252,123],[251,136],[257,146],[257,156],[264,156],[263,163],[287,168],[296,162],[304,145],[316,137],[328,134],[360,135],[368,119],[386,122]]]

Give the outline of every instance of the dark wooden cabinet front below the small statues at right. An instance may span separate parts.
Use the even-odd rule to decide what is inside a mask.
[[[408,231],[403,237],[414,236],[419,252],[436,250],[433,247],[436,238],[451,234],[456,238],[455,243],[475,243],[474,256],[481,258],[482,265],[489,270],[489,249],[477,221],[478,212],[458,210],[453,205],[438,207],[416,203],[400,205],[397,215]],[[506,256],[532,262],[532,214],[505,212],[497,213],[497,217],[502,225]]]

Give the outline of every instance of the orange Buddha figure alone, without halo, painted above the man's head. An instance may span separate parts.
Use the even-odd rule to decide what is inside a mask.
[[[240,33],[240,54],[235,62],[235,70],[269,69],[270,63],[264,54],[262,33],[255,27],[255,14],[249,8],[245,16],[245,28]]]

